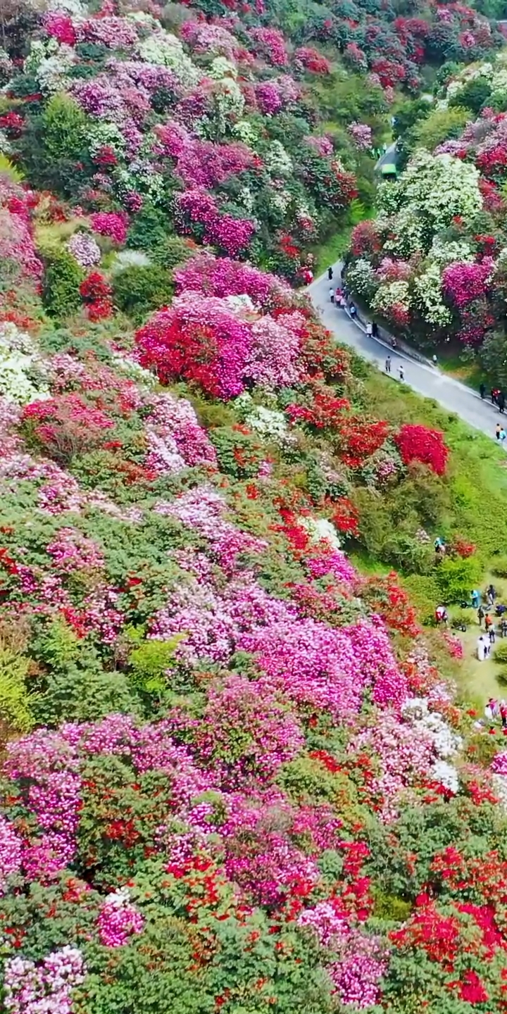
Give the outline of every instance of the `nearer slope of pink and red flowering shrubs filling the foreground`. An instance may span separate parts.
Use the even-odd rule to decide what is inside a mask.
[[[4,1007],[502,1011],[502,754],[341,545],[442,435],[275,276],[174,284],[133,344],[3,314]]]

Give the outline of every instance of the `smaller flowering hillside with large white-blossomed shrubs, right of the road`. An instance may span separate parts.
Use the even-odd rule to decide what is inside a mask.
[[[352,237],[350,284],[413,342],[474,361],[507,380],[506,63],[448,68],[434,103],[407,103],[393,187]],[[479,370],[478,370],[479,373]]]

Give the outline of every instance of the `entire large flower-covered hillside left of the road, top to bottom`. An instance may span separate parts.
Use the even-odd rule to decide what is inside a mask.
[[[423,628],[507,573],[498,453],[301,291],[393,86],[499,44],[413,15],[2,11],[10,1014],[506,1010],[507,751]]]

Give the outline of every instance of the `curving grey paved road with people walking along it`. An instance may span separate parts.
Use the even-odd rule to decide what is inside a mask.
[[[340,278],[338,272],[340,265],[335,267],[335,286]],[[369,338],[362,327],[353,323],[344,310],[339,309],[330,300],[330,282],[328,273],[321,278],[315,279],[307,288],[307,293],[313,306],[320,314],[327,328],[336,335],[339,342],[344,345],[351,345],[356,352],[359,352],[365,359],[376,363],[381,370],[384,369],[385,357],[391,354],[392,378],[397,380],[397,367],[403,362],[405,367],[405,382],[416,390],[418,394],[425,397],[434,399],[443,409],[454,412],[457,416],[481,430],[483,433],[495,439],[495,427],[497,422],[505,419],[507,428],[507,415],[500,416],[498,410],[491,405],[491,402],[483,402],[479,394],[474,393],[464,384],[459,383],[452,377],[441,373],[438,368],[427,366],[425,363],[418,363],[409,356],[401,352],[391,352],[387,346],[374,338]],[[507,441],[506,441],[507,443]]]

